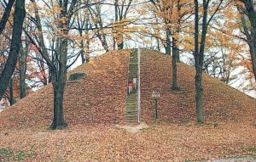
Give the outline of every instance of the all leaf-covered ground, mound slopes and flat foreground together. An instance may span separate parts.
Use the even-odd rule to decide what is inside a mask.
[[[171,92],[171,59],[142,53],[142,115],[148,128],[131,133],[125,125],[125,90],[130,51],[112,52],[79,66],[68,81],[68,129],[49,131],[52,89],[44,87],[0,113],[0,161],[207,161],[256,156],[256,100],[204,76],[207,124],[195,124],[195,70],[178,64]],[[151,92],[160,91],[160,119]],[[116,125],[119,126],[116,126]]]

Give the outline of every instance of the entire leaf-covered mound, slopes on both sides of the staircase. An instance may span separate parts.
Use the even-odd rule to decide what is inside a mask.
[[[125,96],[129,54],[132,50],[106,53],[68,75],[84,73],[67,81],[64,99],[69,126],[125,122]],[[151,50],[141,54],[142,117],[154,121],[151,93],[160,92],[160,120],[172,123],[195,121],[195,69],[177,64],[178,87],[171,91],[171,57]],[[207,122],[255,122],[256,100],[208,75],[203,77],[204,114]],[[0,128],[47,127],[53,117],[53,91],[47,86],[0,113]]]

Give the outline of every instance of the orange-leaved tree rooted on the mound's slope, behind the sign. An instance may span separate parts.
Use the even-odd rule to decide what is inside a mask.
[[[172,53],[172,91],[177,91],[177,61],[180,53],[180,32],[185,20],[192,14],[188,8],[187,0],[150,0],[154,5],[154,13],[163,21],[163,29],[166,31],[165,48],[166,54]],[[163,30],[162,29],[162,30]],[[159,33],[159,32],[158,32]],[[160,37],[160,36],[158,36]]]

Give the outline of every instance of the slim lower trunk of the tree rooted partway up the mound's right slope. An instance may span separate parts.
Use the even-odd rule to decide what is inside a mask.
[[[177,91],[177,55],[179,51],[177,48],[177,40],[172,38],[172,91]]]

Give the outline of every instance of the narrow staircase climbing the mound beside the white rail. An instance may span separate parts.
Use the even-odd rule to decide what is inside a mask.
[[[128,82],[132,81],[132,77],[137,75],[138,72],[138,57],[137,57],[137,50],[134,50],[130,55],[130,62],[129,62],[129,75],[128,75]],[[127,83],[128,84],[128,83]],[[127,122],[137,122],[137,91],[131,92],[130,95],[127,94],[126,97],[126,113],[125,118]]]

